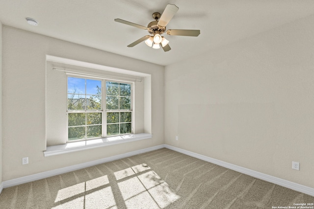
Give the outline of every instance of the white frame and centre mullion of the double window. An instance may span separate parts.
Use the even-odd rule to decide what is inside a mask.
[[[102,102],[101,102],[101,109],[100,110],[68,110],[68,78],[69,77],[74,77],[74,78],[83,78],[83,79],[92,79],[92,80],[100,80],[102,82]],[[131,85],[131,110],[106,110],[106,82],[116,82],[116,83],[125,83],[125,84],[130,84]],[[117,136],[124,136],[124,135],[129,135],[129,134],[134,134],[134,82],[128,81],[128,80],[124,80],[124,79],[108,79],[106,77],[98,77],[98,76],[83,76],[83,75],[75,75],[72,73],[67,74],[67,93],[66,93],[66,115],[67,115],[67,128],[66,128],[66,139],[67,139],[67,143],[71,143],[71,142],[78,142],[78,141],[86,141],[86,140],[92,140],[92,139],[103,139],[103,138],[107,138],[107,137],[117,137]],[[86,86],[85,86],[86,88]],[[120,96],[120,95],[119,95]],[[117,135],[109,135],[107,136],[107,113],[113,113],[113,112],[131,112],[131,133],[127,133],[127,134],[117,134]],[[95,137],[95,138],[88,138],[88,139],[75,139],[75,140],[69,140],[69,113],[102,113],[102,136],[101,137]],[[120,115],[120,114],[119,114]],[[119,117],[119,132],[120,132],[120,117]],[[85,116],[85,126],[86,125],[86,116]],[[86,135],[86,130],[85,130],[85,136]]]

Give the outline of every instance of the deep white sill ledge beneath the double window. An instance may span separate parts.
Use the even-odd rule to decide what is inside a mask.
[[[102,139],[92,139],[78,142],[71,142],[66,144],[48,146],[46,151],[44,151],[44,156],[61,155],[70,152],[77,152],[86,149],[93,149],[103,146],[109,146],[113,144],[121,144],[130,141],[137,141],[142,139],[151,139],[152,134],[129,134],[118,137],[108,137]]]

